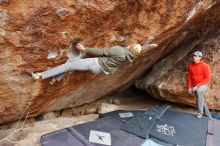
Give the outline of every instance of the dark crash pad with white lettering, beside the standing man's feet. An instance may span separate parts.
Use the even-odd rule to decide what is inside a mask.
[[[185,112],[167,110],[150,132],[150,137],[186,146],[205,146],[208,118],[197,119]]]

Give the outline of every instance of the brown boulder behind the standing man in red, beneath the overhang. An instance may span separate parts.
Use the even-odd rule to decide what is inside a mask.
[[[195,50],[204,53],[203,61],[211,68],[210,88],[206,92],[208,106],[220,110],[220,28],[215,34],[181,47],[154,65],[146,77],[136,81],[136,87],[157,99],[195,106],[196,97],[188,94],[187,88],[188,65]]]

